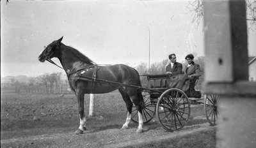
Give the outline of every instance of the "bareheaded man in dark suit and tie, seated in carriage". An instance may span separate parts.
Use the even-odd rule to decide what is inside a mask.
[[[176,62],[176,55],[169,55],[169,63],[165,66],[166,74],[171,77],[182,73],[182,64]]]

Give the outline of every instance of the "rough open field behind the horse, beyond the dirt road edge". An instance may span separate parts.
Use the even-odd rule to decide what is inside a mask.
[[[90,95],[86,94],[84,98],[84,112],[88,115]],[[87,128],[91,133],[106,129],[119,129],[125,122],[126,107],[118,91],[96,94],[94,108],[95,117],[88,117],[87,121]],[[35,116],[40,120],[33,121]],[[191,107],[191,115],[186,126],[195,126],[205,122],[207,121],[204,117],[204,107],[202,105]],[[1,140],[70,134],[76,131],[78,126],[79,114],[77,112],[77,99],[74,94],[64,96],[1,94]],[[129,125],[130,128],[137,126],[138,124],[133,122]],[[156,117],[144,127],[147,130],[162,129]],[[164,132],[164,134],[167,133]],[[154,133],[148,132],[147,134],[154,136]]]

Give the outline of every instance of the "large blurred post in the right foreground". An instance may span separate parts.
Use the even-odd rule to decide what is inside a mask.
[[[219,94],[216,147],[256,147],[256,83],[248,82],[244,0],[203,1],[204,93]]]

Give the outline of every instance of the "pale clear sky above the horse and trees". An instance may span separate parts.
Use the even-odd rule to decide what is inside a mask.
[[[64,72],[38,55],[54,40],[97,64],[161,62],[175,53],[204,56],[203,20],[192,23],[189,1],[1,1],[1,77]],[[150,34],[150,40],[149,40]],[[248,34],[256,56],[256,31]],[[149,56],[150,51],[150,56]],[[53,58],[57,64],[58,59]]]

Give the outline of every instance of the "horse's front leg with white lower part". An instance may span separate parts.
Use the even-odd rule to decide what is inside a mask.
[[[84,93],[81,89],[76,90],[76,96],[78,101],[78,112],[80,125],[76,131],[76,134],[82,134],[86,130],[86,117],[84,115]]]

